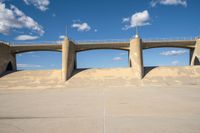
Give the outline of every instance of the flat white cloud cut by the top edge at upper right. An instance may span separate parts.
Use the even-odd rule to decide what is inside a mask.
[[[187,6],[187,0],[152,0],[151,6],[155,7],[157,4],[161,5],[182,5]]]

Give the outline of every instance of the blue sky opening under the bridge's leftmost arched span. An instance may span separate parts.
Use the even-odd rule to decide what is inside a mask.
[[[61,69],[62,53],[57,51],[34,51],[16,54],[17,70]]]

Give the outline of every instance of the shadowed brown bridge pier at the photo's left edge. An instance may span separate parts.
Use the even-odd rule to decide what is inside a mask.
[[[6,71],[16,71],[16,56],[9,45],[0,43],[0,75]]]

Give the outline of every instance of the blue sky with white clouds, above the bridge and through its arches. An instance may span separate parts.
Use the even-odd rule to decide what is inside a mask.
[[[135,25],[143,39],[197,37],[199,5],[198,0],[0,0],[0,40],[62,40],[66,25],[75,41],[129,40],[135,35]],[[143,54],[145,66],[189,62],[186,49],[157,48]],[[80,68],[128,66],[128,55],[120,50],[80,52],[77,60]],[[19,69],[57,69],[61,53],[24,53],[17,55],[17,63]]]

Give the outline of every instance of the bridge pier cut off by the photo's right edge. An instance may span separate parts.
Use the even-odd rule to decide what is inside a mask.
[[[200,65],[200,39],[196,40],[194,53],[191,59],[191,66]]]

